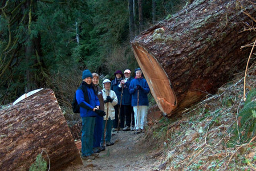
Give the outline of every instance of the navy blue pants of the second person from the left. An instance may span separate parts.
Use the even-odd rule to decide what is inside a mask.
[[[94,127],[94,148],[100,146],[103,129],[103,117],[97,115]]]

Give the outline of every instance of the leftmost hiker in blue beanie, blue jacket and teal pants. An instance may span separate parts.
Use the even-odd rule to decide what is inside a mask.
[[[94,143],[94,127],[97,115],[104,115],[104,111],[99,110],[100,101],[95,94],[92,85],[92,74],[89,70],[84,70],[82,84],[76,90],[76,101],[80,106],[80,116],[82,117],[82,158],[94,160],[99,154],[94,153],[92,146]]]

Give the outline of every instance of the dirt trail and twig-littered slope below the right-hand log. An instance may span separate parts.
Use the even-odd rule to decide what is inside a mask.
[[[255,71],[255,66],[249,70],[246,95],[256,92]],[[243,73],[235,75],[181,117],[162,117],[145,133],[114,132],[115,145],[100,152],[99,158],[66,170],[256,170],[255,133],[237,129],[245,105],[243,82]],[[250,101],[256,101],[255,94]],[[249,112],[255,111],[254,105]],[[236,130],[241,134],[235,138]],[[243,141],[244,135],[249,140]]]

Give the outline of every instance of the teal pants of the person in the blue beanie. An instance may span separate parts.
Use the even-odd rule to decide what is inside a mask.
[[[94,126],[96,117],[82,117],[82,156],[91,156],[94,151]]]

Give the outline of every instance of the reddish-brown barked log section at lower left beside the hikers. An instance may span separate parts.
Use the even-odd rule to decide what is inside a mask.
[[[82,164],[66,119],[51,89],[0,110],[0,170],[28,170],[45,150],[51,170]],[[44,160],[48,158],[43,153]]]

